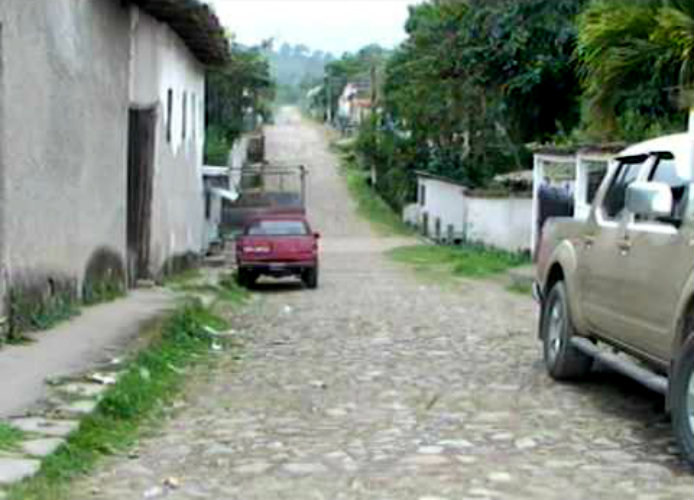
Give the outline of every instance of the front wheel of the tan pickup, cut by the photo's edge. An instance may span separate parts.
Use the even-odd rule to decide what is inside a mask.
[[[672,427],[684,458],[694,465],[694,336],[680,352],[670,382]]]

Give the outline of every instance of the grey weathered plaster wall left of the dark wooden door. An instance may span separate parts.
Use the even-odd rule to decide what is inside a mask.
[[[97,249],[125,254],[129,19],[113,0],[2,0],[2,214],[12,282],[79,282]]]

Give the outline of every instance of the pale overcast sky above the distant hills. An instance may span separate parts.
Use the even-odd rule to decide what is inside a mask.
[[[336,56],[370,43],[394,47],[405,38],[407,6],[419,0],[208,0],[238,42],[274,38]]]

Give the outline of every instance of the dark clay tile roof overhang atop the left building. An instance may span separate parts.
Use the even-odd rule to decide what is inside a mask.
[[[207,66],[229,62],[229,40],[214,10],[200,0],[131,0],[150,16],[168,24],[195,58]]]

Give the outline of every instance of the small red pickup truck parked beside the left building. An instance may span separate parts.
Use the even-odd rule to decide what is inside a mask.
[[[239,284],[253,286],[260,276],[297,276],[307,288],[317,288],[319,238],[303,215],[252,220],[236,240]]]

